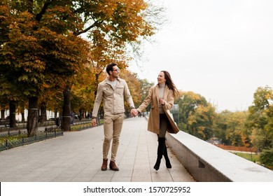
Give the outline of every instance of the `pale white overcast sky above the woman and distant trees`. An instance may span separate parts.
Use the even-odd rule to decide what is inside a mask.
[[[133,64],[157,82],[167,70],[183,91],[201,94],[217,111],[247,110],[258,87],[273,87],[272,0],[160,0],[169,24]]]

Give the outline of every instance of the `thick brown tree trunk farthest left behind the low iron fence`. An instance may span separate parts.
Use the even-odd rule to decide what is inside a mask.
[[[27,136],[36,135],[38,130],[38,97],[29,98],[29,109],[27,115]]]

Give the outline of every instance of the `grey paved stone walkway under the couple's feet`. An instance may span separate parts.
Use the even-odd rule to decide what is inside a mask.
[[[157,136],[146,131],[145,118],[124,121],[116,164],[119,172],[101,171],[103,127],[0,152],[1,182],[193,182],[192,176],[169,151],[172,169],[155,171]]]

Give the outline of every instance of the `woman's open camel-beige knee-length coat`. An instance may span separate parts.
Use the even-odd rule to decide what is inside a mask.
[[[139,112],[142,112],[152,102],[150,116],[149,116],[149,120],[148,120],[148,131],[154,132],[155,134],[159,134],[159,132],[160,132],[160,115],[159,115],[159,110],[158,110],[158,103],[159,103],[158,93],[159,93],[159,85],[155,85],[155,86],[151,87],[151,89],[149,90],[148,96],[144,99],[144,102],[137,109]],[[174,95],[173,95],[172,90],[169,90],[167,85],[165,85],[163,99],[165,99],[165,101],[166,101],[165,105],[163,106],[163,109],[169,119],[167,131],[169,133],[176,134],[177,132],[179,132],[179,127],[177,127],[176,124],[174,123],[174,120],[172,119],[172,114],[169,111],[172,108],[172,106],[174,106]]]

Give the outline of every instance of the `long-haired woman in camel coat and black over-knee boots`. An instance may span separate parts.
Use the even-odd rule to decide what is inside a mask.
[[[158,171],[162,156],[166,160],[166,167],[172,168],[165,145],[166,132],[176,134],[179,128],[174,123],[169,110],[174,105],[174,97],[179,95],[168,71],[160,71],[158,75],[158,84],[151,87],[148,96],[139,106],[137,111],[140,113],[152,102],[150,116],[148,120],[148,131],[158,134],[158,158],[153,167]]]

